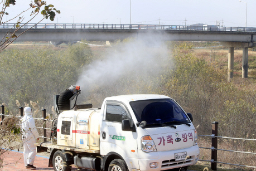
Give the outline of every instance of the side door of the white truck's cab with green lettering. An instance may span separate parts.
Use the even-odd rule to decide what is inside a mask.
[[[124,119],[132,119],[127,107],[122,102],[107,101],[100,135],[100,153],[102,155],[118,153],[123,157],[128,168],[136,168],[137,133],[122,130]]]

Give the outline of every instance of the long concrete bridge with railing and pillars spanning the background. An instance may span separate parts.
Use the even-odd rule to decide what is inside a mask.
[[[21,26],[22,24],[20,24]],[[31,28],[32,27],[32,28]],[[31,28],[16,41],[114,41],[124,38],[146,38],[151,36],[162,41],[218,41],[229,48],[228,81],[233,78],[234,48],[243,48],[242,77],[248,77],[248,48],[256,42],[254,27],[217,27],[217,26],[173,26],[173,25],[116,25],[116,24],[26,24],[18,33]],[[0,25],[0,36],[14,31],[15,24]]]

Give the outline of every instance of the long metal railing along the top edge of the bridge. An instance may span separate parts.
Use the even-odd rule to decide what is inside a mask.
[[[19,24],[23,26],[24,24]],[[129,24],[59,24],[59,23],[27,23],[23,29],[121,29],[121,30],[177,30],[177,31],[225,31],[256,32],[255,27],[220,27],[220,26],[177,26],[177,25],[129,25]],[[0,29],[17,28],[15,23],[2,23]]]

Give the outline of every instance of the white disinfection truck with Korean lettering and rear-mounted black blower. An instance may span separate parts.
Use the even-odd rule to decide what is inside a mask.
[[[59,114],[52,125],[54,141],[37,143],[38,152],[50,149],[49,167],[104,171],[160,171],[187,168],[199,159],[192,115],[163,95],[107,97],[99,109],[76,105],[80,94],[71,86],[55,95]],[[74,105],[75,106],[75,105]]]

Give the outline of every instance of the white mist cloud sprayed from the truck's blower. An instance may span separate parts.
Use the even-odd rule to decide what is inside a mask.
[[[90,91],[94,86],[118,84],[118,79],[126,75],[132,80],[138,76],[158,76],[168,64],[168,57],[165,43],[158,41],[157,37],[145,35],[136,40],[121,42],[105,58],[86,66],[76,85],[82,91]]]

